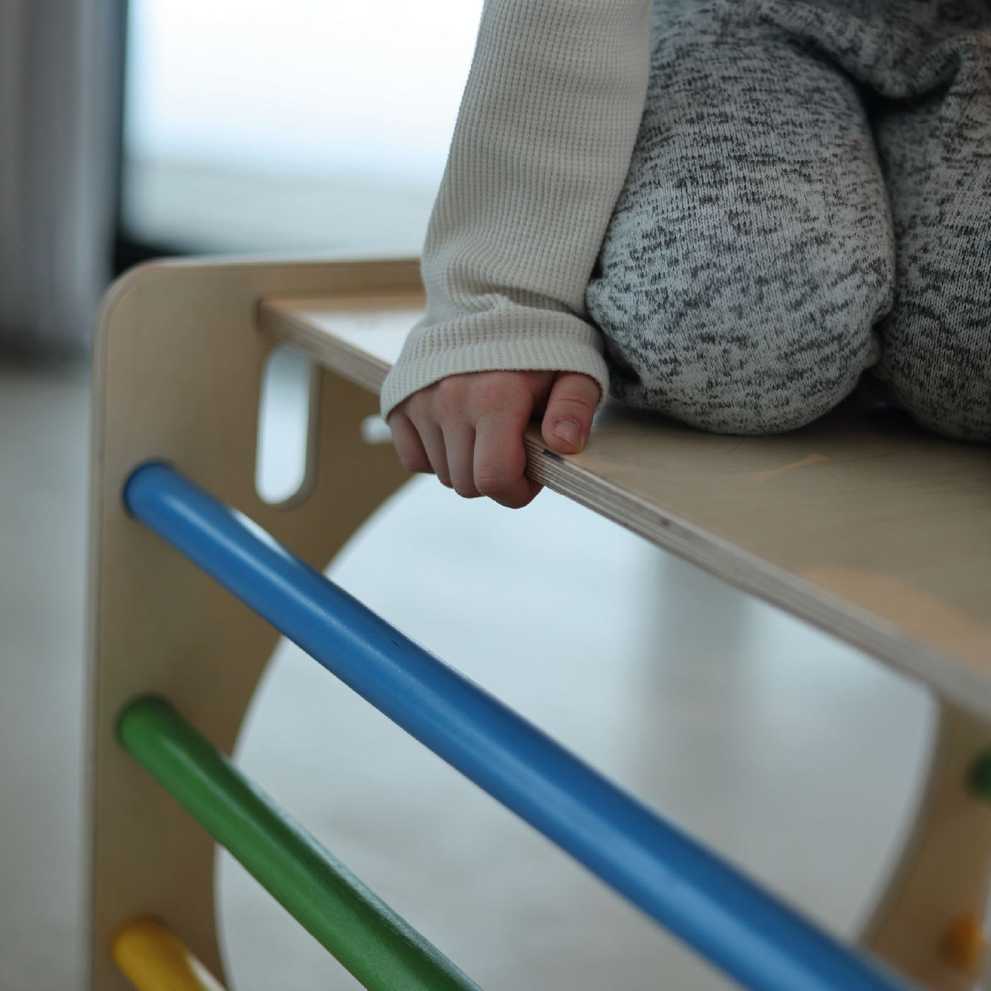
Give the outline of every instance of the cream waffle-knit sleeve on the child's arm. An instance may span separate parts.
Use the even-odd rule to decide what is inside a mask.
[[[585,289],[643,112],[650,10],[486,0],[423,249],[427,311],[385,379],[384,416],[462,372],[584,372],[605,398]]]

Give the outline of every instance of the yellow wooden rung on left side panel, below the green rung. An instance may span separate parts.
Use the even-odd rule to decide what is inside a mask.
[[[126,922],[114,934],[111,952],[138,991],[224,991],[220,982],[157,919]]]

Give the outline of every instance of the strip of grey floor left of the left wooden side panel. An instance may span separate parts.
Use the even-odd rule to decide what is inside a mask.
[[[88,376],[0,367],[0,988],[79,987]]]

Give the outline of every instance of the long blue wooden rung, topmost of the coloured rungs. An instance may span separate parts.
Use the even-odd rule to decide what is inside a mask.
[[[414,643],[173,468],[140,520],[466,777],[753,991],[908,991]]]

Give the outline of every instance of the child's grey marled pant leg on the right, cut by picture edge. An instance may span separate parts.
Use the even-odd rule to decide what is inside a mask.
[[[941,6],[877,80],[897,293],[871,374],[924,426],[991,443],[991,14]]]

